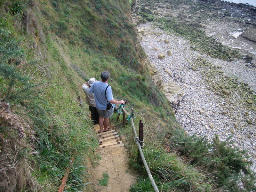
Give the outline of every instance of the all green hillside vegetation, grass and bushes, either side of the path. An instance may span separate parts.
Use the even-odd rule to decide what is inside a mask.
[[[57,191],[68,167],[65,191],[94,191],[89,178],[100,159],[98,142],[78,97],[85,100],[81,85],[104,70],[114,98],[128,100],[136,123],[146,121],[144,152],[159,190],[237,191],[241,178],[253,190],[243,152],[179,129],[146,68],[128,1],[13,0],[1,1],[0,9],[0,191]],[[153,191],[130,125],[120,132],[140,175],[131,191]]]

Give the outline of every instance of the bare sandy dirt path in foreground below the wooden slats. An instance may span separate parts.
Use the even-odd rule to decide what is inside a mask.
[[[98,186],[94,191],[128,192],[136,177],[128,172],[126,148],[100,148],[99,153],[102,158],[92,170],[92,182]],[[107,187],[99,185],[99,180],[103,179],[102,173],[109,176]]]

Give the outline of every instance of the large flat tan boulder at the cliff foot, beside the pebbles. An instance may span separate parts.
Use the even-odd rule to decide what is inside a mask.
[[[169,81],[161,87],[166,98],[169,102],[177,101],[179,97],[183,96],[185,92],[179,87],[178,84],[173,81]]]

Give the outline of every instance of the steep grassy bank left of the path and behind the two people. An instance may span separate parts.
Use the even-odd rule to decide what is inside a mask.
[[[10,104],[2,103],[1,110],[19,117],[12,127],[9,112],[1,116],[1,191],[56,191],[73,156],[66,190],[82,191],[89,185],[89,164],[98,157],[89,110],[77,99],[84,100],[85,81],[109,70],[115,99],[156,116],[171,113],[145,68],[128,2],[29,0],[0,6],[0,96]]]

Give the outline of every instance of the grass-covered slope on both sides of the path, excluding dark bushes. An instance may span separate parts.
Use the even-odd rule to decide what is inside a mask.
[[[39,123],[33,118],[38,116],[33,111],[32,117],[21,115],[31,127],[31,133],[30,129],[26,130],[29,145],[27,160],[34,170],[31,171],[33,176],[43,186],[43,191],[56,191],[74,154],[75,164],[66,189],[79,191],[82,186],[87,187],[87,167],[90,161],[94,162],[98,158],[95,154],[97,143],[90,129],[92,123],[88,117],[89,110],[86,104],[84,109],[79,107],[77,96],[84,100],[81,85],[90,77],[99,79],[103,70],[111,73],[109,84],[114,98],[128,100],[127,108],[133,107],[137,119],[147,122],[147,147],[144,150],[151,162],[150,169],[154,177],[158,178],[156,182],[162,186],[163,191],[213,190],[212,184],[207,181],[209,178],[191,165],[183,163],[175,153],[163,149],[167,142],[163,138],[169,139],[167,133],[170,129],[179,126],[166,98],[154,86],[142,64],[145,53],[136,44],[134,28],[127,18],[128,1],[43,0],[25,1],[22,4],[24,8],[21,11],[28,19],[24,21],[23,13],[13,14],[10,11],[14,2],[5,2],[1,27],[10,30],[13,38],[22,38],[20,45],[26,52],[22,58],[24,62],[18,67],[20,71],[31,77],[32,82],[44,81],[39,86],[44,91],[36,95],[45,99],[40,106],[44,108],[47,118],[42,117],[44,122]],[[26,23],[29,22],[31,24],[26,30]],[[38,65],[49,69],[46,70],[46,76],[40,76],[42,71],[35,62],[31,62],[35,58],[38,59]],[[3,92],[1,97],[4,96]],[[26,105],[11,99],[7,101],[13,102],[12,109],[17,113],[27,110],[30,103],[38,104],[36,99],[25,99]],[[47,112],[45,109],[51,110]],[[116,115],[112,120],[115,118]],[[120,131],[131,143],[128,146],[131,165],[142,173],[138,186],[132,190],[152,190],[145,170],[138,169],[137,149],[132,141],[130,125]],[[32,151],[40,153],[34,156],[31,155]],[[143,182],[145,185],[141,185]],[[145,188],[141,189],[143,186]]]

